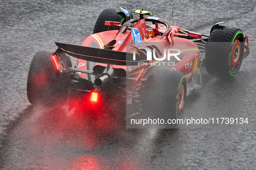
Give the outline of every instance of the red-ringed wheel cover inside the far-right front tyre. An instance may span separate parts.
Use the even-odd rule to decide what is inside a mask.
[[[240,53],[241,53],[241,43],[239,40],[236,40],[233,44],[231,57],[230,57],[230,65],[232,69],[235,69],[237,66],[239,66]]]

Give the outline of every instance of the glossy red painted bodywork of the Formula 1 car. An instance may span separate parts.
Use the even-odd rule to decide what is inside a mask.
[[[152,17],[145,17],[145,18],[152,18]],[[159,19],[156,17],[153,17],[154,19]],[[161,19],[164,21],[163,19]],[[166,21],[165,21],[166,22]],[[152,23],[152,22],[151,22]],[[122,25],[118,25],[118,23],[114,22],[106,22],[105,25],[115,25],[119,26],[120,29],[122,28]],[[139,80],[143,77],[144,73],[147,69],[154,65],[165,64],[165,68],[167,69],[175,69],[178,71],[181,71],[185,74],[187,80],[193,76],[197,66],[198,66],[198,60],[199,60],[199,49],[198,45],[185,38],[179,38],[178,36],[191,36],[194,38],[201,38],[201,35],[198,33],[189,32],[188,35],[180,34],[179,31],[183,28],[171,26],[169,32],[162,38],[161,35],[156,35],[157,33],[164,33],[166,31],[166,26],[162,24],[155,24],[150,25],[152,29],[147,28],[147,24],[145,22],[145,19],[139,19],[136,24],[131,27],[130,29],[137,29],[139,31],[139,35],[141,36],[141,40],[144,44],[150,43],[150,44],[156,44],[156,46],[159,48],[160,51],[164,52],[164,49],[179,49],[181,51],[181,54],[184,54],[184,57],[178,62],[175,63],[174,66],[168,66],[167,65],[167,57],[165,60],[158,61],[158,60],[151,60],[149,63],[145,63],[144,65],[137,65],[137,66],[117,66],[117,65],[110,65],[113,69],[124,69],[126,71],[126,76],[134,77],[136,80]],[[93,41],[94,44],[97,44],[99,48],[104,48],[104,45],[107,43],[110,43],[113,40],[116,40],[116,43],[113,45],[111,50],[116,51],[122,51],[127,53],[133,53],[134,47],[139,48],[139,46],[136,46],[133,40],[133,32],[132,30],[127,30],[124,33],[120,33],[119,30],[113,30],[113,31],[104,31],[100,32],[94,35],[90,35],[88,38],[86,38],[81,46],[90,47],[91,42]],[[150,35],[155,34],[156,36],[152,37]],[[132,43],[129,43],[132,42]],[[130,46],[127,46],[126,43],[132,44]],[[167,55],[167,54],[163,54]],[[163,56],[162,56],[163,57]],[[166,63],[164,63],[166,62]],[[87,69],[86,68],[86,61],[78,59],[77,60],[77,68],[79,69]],[[96,63],[95,66],[100,65],[107,67],[107,64],[103,63]],[[91,69],[91,68],[90,68]],[[80,73],[81,77],[85,78],[85,73]]]

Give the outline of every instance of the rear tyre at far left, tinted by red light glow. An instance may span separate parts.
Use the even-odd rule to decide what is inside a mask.
[[[38,52],[33,57],[27,79],[27,97],[31,104],[53,106],[65,104],[68,97],[68,62],[62,62],[60,72],[51,52]]]

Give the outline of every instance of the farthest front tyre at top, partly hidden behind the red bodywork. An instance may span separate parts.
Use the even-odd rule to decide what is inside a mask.
[[[120,22],[120,24],[123,25],[124,22],[127,22],[130,19],[133,19],[133,14],[130,13],[128,9],[122,7],[118,9],[104,9],[104,11],[102,11],[100,16],[97,18],[94,25],[93,34],[108,30],[108,26],[105,25],[105,21]],[[119,27],[109,27],[109,31],[118,29]]]

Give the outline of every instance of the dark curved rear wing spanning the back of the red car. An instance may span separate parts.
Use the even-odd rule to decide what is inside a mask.
[[[125,53],[114,50],[105,50],[100,48],[84,47],[71,44],[55,44],[66,54],[72,57],[96,63],[105,63],[120,66],[136,66],[139,64],[139,62],[149,62],[148,60],[146,60],[146,55],[139,56],[138,54]],[[139,58],[139,60],[133,60],[133,58]]]

